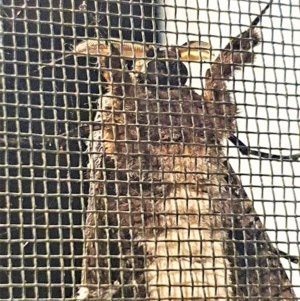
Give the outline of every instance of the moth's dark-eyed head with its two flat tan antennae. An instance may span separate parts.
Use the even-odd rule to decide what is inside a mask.
[[[158,85],[159,88],[184,86],[188,70],[184,62],[200,62],[211,59],[211,47],[205,42],[189,42],[180,47],[157,48],[154,45],[103,40],[88,40],[78,44],[76,55],[99,56],[104,67],[121,68],[118,63],[110,63],[113,56],[132,62],[133,73],[138,82]],[[110,57],[111,56],[111,57]],[[105,78],[110,82],[109,72]]]

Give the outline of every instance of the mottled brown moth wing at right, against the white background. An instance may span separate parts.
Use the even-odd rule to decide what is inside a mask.
[[[224,215],[232,215],[227,251],[239,300],[297,300],[278,252],[233,169],[228,166],[228,202]],[[230,210],[231,212],[230,212]]]

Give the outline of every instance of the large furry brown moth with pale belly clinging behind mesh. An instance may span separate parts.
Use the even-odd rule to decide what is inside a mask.
[[[237,115],[226,81],[253,63],[268,7],[211,62],[201,95],[183,61],[210,60],[205,43],[76,47],[105,79],[77,300],[296,300],[223,146]]]

